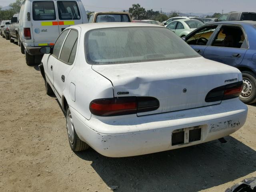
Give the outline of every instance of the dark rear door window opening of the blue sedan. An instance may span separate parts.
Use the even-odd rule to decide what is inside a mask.
[[[222,26],[214,38],[212,46],[248,48],[244,32],[240,27],[235,26]]]

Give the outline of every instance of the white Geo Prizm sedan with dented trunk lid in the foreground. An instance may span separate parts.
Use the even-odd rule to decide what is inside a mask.
[[[246,121],[241,72],[204,59],[165,27],[70,26],[40,51],[73,151],[149,154],[228,136]]]

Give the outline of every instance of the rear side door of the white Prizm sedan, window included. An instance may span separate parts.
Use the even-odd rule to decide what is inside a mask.
[[[69,30],[68,36],[64,40],[59,59],[56,61],[53,70],[54,89],[56,96],[61,102],[62,92],[66,86],[66,79],[70,70],[73,68],[73,62],[76,56],[76,47],[78,44],[78,31]]]

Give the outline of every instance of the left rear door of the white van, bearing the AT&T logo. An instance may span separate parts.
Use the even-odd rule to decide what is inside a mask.
[[[60,34],[54,1],[33,1],[31,7],[34,46],[54,45]]]

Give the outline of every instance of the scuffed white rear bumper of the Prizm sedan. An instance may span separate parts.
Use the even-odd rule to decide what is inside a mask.
[[[79,138],[109,157],[149,154],[216,140],[241,128],[248,112],[238,98],[214,106],[113,120],[86,120],[74,108],[70,110]],[[172,145],[174,130],[194,126],[201,127],[200,140]]]

